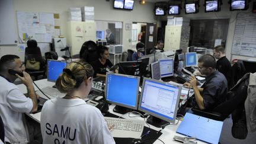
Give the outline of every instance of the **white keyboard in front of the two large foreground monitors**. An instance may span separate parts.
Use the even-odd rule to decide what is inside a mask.
[[[139,138],[142,135],[145,121],[118,119],[113,117],[104,117],[108,127],[113,127],[111,135],[113,137],[132,137]]]

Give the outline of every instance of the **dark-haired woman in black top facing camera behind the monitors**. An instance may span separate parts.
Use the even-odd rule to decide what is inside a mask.
[[[91,66],[94,69],[94,77],[103,76],[107,72],[107,68],[111,68],[113,64],[110,62],[108,48],[105,46],[98,46],[99,58],[94,62],[91,62]],[[118,73],[117,69],[114,72]]]

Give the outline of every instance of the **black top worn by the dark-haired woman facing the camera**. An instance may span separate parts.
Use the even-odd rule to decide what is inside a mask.
[[[103,65],[99,59],[91,62],[90,64],[94,69],[94,77],[97,75],[97,73],[105,75],[107,72],[106,68],[111,68],[113,66],[113,64],[108,59],[106,60],[105,65]]]

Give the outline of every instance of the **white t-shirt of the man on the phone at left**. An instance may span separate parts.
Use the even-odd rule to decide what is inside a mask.
[[[33,101],[7,79],[0,76],[0,115],[5,125],[5,141],[27,143],[29,140],[24,113],[30,113]]]

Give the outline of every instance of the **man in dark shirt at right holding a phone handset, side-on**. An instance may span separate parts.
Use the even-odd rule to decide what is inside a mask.
[[[228,82],[222,73],[216,71],[215,57],[204,55],[198,62],[200,73],[206,75],[206,82],[198,88],[197,79],[191,76],[190,83],[185,82],[184,85],[194,89],[196,103],[201,110],[211,110],[226,101]]]

